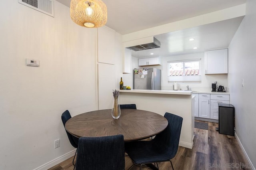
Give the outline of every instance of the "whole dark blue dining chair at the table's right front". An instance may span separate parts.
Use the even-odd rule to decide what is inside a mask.
[[[172,165],[171,159],[178,150],[183,118],[171,113],[165,113],[164,117],[168,120],[168,125],[154,139],[127,142],[125,144],[126,153],[134,164],[140,165],[140,169],[142,165],[157,164],[157,162],[170,161]],[[173,165],[172,169],[174,170]]]

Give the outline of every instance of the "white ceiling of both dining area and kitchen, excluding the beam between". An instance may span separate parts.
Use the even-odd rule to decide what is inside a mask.
[[[56,0],[70,6],[70,0]],[[108,9],[106,26],[124,35],[178,20],[244,4],[246,0],[102,0]],[[228,47],[243,17],[155,35],[161,47],[132,51],[134,57],[181,55]],[[85,28],[86,29],[86,28]],[[189,38],[195,38],[189,42]],[[193,50],[193,47],[198,49]]]

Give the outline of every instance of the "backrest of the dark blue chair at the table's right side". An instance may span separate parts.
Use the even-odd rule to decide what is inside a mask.
[[[183,118],[167,112],[164,117],[167,119],[168,125],[164,131],[156,135],[154,140],[163,149],[171,151],[169,153],[173,157],[178,150]]]

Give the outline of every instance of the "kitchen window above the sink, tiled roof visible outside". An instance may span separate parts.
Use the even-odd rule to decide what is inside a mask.
[[[168,82],[200,82],[201,59],[168,61]]]

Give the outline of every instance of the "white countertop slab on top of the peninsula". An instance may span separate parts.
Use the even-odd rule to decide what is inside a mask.
[[[126,93],[155,93],[155,94],[169,94],[169,95],[192,95],[193,91],[188,90],[120,90],[120,92]]]

